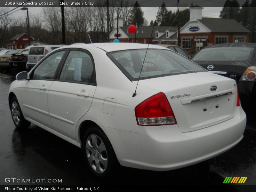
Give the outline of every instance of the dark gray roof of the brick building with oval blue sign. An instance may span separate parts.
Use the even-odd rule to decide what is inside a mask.
[[[243,25],[234,19],[202,18],[198,20],[212,32],[248,33],[250,32]]]

